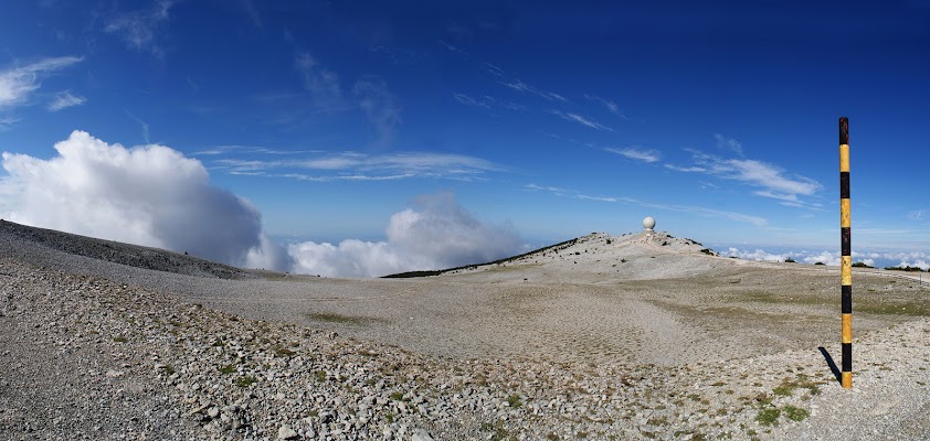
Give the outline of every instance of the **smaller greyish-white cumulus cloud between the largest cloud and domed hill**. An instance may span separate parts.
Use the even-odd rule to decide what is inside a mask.
[[[377,277],[499,259],[524,249],[509,226],[482,223],[451,194],[421,196],[391,216],[387,241],[306,241],[288,246],[294,271],[328,277]]]

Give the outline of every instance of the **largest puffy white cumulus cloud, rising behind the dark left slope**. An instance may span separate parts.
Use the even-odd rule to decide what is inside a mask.
[[[74,131],[44,160],[2,154],[4,218],[207,259],[287,269],[258,211],[210,184],[200,161],[158,144],[125,148]]]

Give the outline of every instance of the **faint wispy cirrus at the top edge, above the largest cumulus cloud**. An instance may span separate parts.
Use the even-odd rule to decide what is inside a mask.
[[[165,56],[158,44],[158,34],[171,18],[170,10],[177,3],[173,0],[160,0],[147,9],[117,14],[112,18],[104,31],[123,37],[126,44],[139,52],[149,52],[156,57]]]

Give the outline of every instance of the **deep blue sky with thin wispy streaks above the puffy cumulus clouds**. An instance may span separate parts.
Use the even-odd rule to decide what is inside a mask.
[[[927,1],[11,2],[0,151],[166,146],[282,243],[382,241],[444,195],[525,245],[652,215],[820,252],[846,116],[854,250],[930,260],[928,23]]]

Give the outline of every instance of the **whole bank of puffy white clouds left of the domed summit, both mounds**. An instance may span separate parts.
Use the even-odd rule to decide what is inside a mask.
[[[249,201],[210,183],[203,164],[166,146],[126,148],[75,130],[39,159],[2,154],[0,216],[240,267],[328,277],[483,262],[525,250],[508,225],[482,223],[452,194],[419,197],[391,216],[387,240],[278,244]]]

